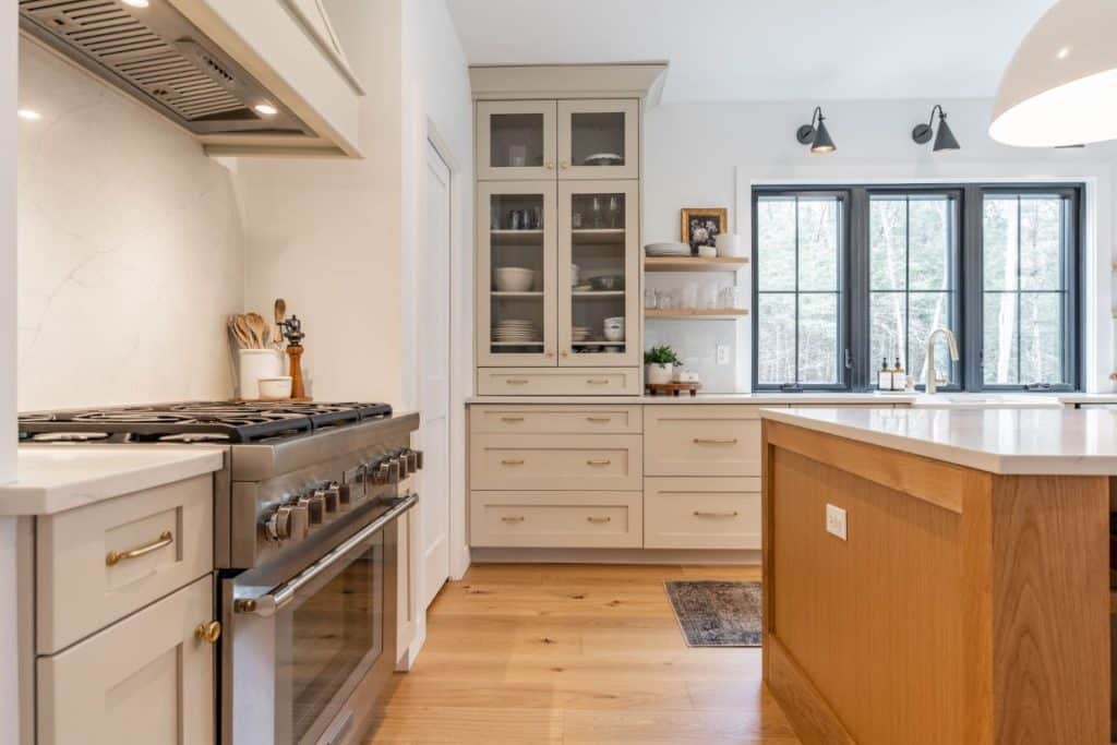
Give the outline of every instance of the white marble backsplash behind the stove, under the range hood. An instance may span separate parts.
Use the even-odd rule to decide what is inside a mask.
[[[226,398],[244,305],[229,172],[170,122],[26,39],[19,408]]]

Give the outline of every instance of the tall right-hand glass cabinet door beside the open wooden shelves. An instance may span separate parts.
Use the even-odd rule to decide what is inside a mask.
[[[638,365],[636,181],[558,185],[558,364]]]

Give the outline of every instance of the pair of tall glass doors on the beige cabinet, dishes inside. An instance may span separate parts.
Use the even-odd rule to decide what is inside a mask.
[[[636,366],[636,181],[478,184],[481,367]]]

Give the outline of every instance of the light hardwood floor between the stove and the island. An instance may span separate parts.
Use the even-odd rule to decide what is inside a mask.
[[[477,565],[370,743],[798,743],[761,650],[690,649],[663,581],[760,567]]]

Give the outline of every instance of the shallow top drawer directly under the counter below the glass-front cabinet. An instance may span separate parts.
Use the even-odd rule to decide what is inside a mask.
[[[478,405],[469,410],[469,431],[478,434],[639,434],[640,407]]]

